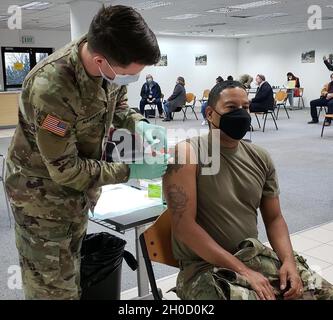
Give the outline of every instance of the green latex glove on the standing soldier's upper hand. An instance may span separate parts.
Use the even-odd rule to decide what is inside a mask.
[[[164,153],[167,153],[168,140],[164,127],[139,121],[136,123],[135,132],[142,137],[144,143],[150,145],[152,151],[161,153],[162,149],[164,149]]]

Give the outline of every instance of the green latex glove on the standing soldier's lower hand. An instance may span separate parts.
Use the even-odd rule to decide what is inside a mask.
[[[168,166],[168,155],[159,155],[156,157],[145,157],[143,163],[131,163],[130,179],[157,179],[161,178]]]

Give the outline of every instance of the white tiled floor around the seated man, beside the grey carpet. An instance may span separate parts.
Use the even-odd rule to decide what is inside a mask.
[[[291,235],[293,248],[301,254],[311,269],[318,272],[333,284],[333,222],[320,225]],[[157,286],[162,290],[167,300],[176,300],[173,292],[166,293],[175,287],[177,274],[157,280]],[[122,292],[121,299],[128,300],[137,296],[137,288]]]

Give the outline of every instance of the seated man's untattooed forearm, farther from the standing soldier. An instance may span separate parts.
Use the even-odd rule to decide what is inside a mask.
[[[283,263],[293,260],[294,254],[290,242],[287,224],[282,216],[278,216],[269,225],[266,225],[267,236],[273,250]]]

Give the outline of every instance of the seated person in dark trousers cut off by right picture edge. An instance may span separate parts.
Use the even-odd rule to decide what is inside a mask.
[[[320,98],[312,100],[311,105],[311,117],[312,120],[309,124],[318,123],[317,107],[327,107],[327,114],[333,114],[333,73],[331,74],[331,82],[325,84],[323,90],[321,90]],[[331,125],[331,119],[325,121],[325,126]]]

